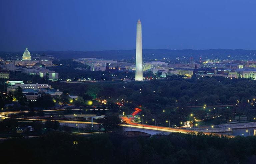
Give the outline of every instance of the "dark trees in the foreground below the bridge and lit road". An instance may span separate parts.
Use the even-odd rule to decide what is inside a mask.
[[[256,138],[173,133],[151,138],[50,133],[0,143],[3,163],[254,163]],[[13,148],[15,153],[13,158]],[[28,155],[29,158],[24,158]]]

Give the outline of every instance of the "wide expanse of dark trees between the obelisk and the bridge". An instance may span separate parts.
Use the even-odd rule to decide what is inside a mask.
[[[115,85],[112,83],[62,84],[59,87],[84,98],[106,99],[107,108],[120,114],[123,112],[130,114],[135,107],[140,106],[142,108],[140,115],[144,115],[144,121],[147,120],[152,124],[150,120],[157,119],[161,125],[168,125],[166,121],[172,121],[171,124],[177,125],[192,119],[188,118],[191,113],[201,120],[211,118],[213,115],[222,115],[222,118],[215,120],[216,124],[241,116],[246,116],[248,121],[256,117],[254,106],[251,105],[256,95],[253,89],[256,87],[256,81],[248,79],[231,80],[224,77],[184,79],[175,76],[171,79],[150,82],[115,83]],[[123,106],[119,108],[117,102]],[[211,111],[189,108],[189,106],[203,105],[237,107],[210,108]],[[238,107],[241,108],[241,112],[238,112]]]

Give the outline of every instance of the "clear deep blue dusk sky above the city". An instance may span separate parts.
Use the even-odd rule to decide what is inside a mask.
[[[0,51],[256,49],[255,0],[1,0]]]

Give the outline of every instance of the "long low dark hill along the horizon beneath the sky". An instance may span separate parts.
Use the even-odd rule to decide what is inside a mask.
[[[104,58],[104,59],[134,59],[135,50],[105,50],[105,51],[30,51],[32,56],[51,55],[60,59],[72,58]],[[0,52],[2,58],[21,57],[22,52]],[[143,49],[144,60],[163,59],[170,60],[220,59],[220,60],[256,60],[256,50],[243,49],[209,49],[209,50],[169,50],[169,49]]]

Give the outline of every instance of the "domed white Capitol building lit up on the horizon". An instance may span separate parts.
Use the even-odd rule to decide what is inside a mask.
[[[52,66],[52,60],[32,60],[28,48],[26,48],[26,50],[24,51],[22,55],[22,60],[15,60],[15,65],[18,66],[33,67],[36,63],[41,63],[46,67]]]

